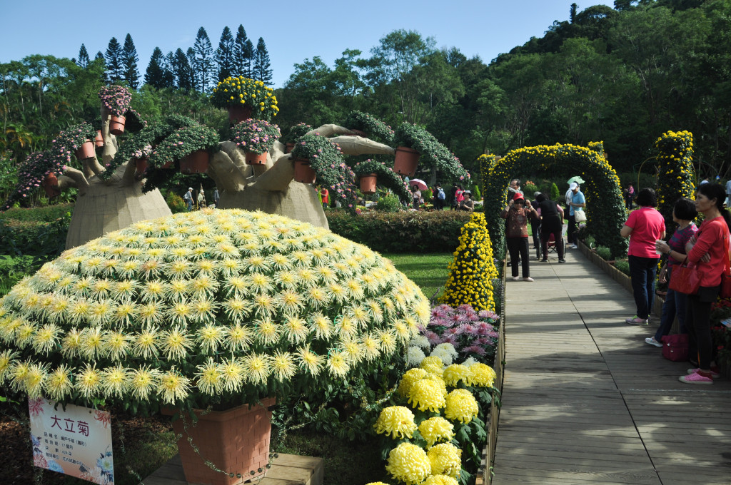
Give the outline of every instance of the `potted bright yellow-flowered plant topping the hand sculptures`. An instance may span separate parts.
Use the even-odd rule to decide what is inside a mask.
[[[232,124],[248,120],[252,116],[270,120],[279,112],[274,90],[248,77],[227,77],[213,88],[211,102],[229,112]]]

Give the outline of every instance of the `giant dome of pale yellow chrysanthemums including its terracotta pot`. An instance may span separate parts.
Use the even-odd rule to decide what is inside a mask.
[[[327,229],[243,210],[178,213],[66,251],[1,299],[0,383],[61,405],[173,408],[186,479],[230,485],[268,464],[272,399],[379,372],[429,315],[389,261]],[[230,415],[257,413],[259,424],[227,433],[252,451],[236,464],[211,440]],[[241,442],[254,434],[263,442]]]

